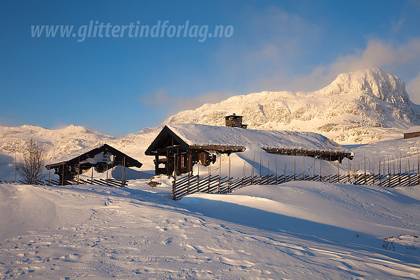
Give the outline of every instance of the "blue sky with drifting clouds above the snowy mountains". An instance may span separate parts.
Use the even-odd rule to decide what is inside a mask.
[[[124,136],[232,95],[317,90],[368,67],[400,77],[420,104],[419,15],[416,0],[1,1],[0,125]],[[78,42],[91,20],[233,32]],[[32,25],[74,25],[76,37],[33,38]]]

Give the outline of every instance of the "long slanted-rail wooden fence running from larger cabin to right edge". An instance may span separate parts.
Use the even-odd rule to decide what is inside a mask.
[[[172,199],[181,198],[197,192],[208,194],[229,194],[237,189],[250,185],[279,185],[291,181],[316,181],[330,183],[351,183],[354,185],[377,185],[382,187],[414,186],[420,185],[420,174],[398,173],[398,174],[346,174],[314,176],[291,174],[291,175],[265,175],[248,176],[242,178],[219,177],[218,175],[198,176],[186,175],[176,178],[172,182]]]

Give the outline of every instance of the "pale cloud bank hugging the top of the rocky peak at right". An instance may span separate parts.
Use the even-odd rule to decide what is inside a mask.
[[[417,76],[413,79],[419,73],[419,65],[420,39],[412,39],[407,43],[369,40],[366,49],[337,57],[333,63],[320,65],[308,75],[291,77],[286,70],[281,69],[267,79],[258,80],[258,83],[261,88],[270,90],[277,86],[275,90],[314,91],[328,85],[341,73],[378,67],[405,80],[409,84],[407,91],[410,97],[419,100],[420,90],[417,88],[420,88],[420,78]]]

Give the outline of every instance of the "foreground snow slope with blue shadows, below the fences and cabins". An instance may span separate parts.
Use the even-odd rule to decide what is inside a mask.
[[[0,278],[420,278],[419,187],[169,191],[0,184]]]

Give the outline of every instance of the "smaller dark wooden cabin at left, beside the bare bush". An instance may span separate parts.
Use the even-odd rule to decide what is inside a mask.
[[[116,165],[140,168],[143,164],[108,144],[102,144],[78,150],[56,163],[46,165],[45,168],[48,170],[54,168],[54,173],[60,176],[62,182],[63,178],[73,180],[75,176],[83,174],[91,167],[102,173]]]

